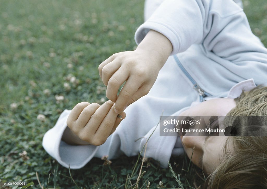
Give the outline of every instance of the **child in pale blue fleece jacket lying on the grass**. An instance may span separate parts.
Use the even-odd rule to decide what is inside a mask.
[[[92,157],[137,155],[150,137],[146,157],[162,167],[171,155],[191,158],[195,146],[192,162],[210,175],[209,188],[266,188],[266,137],[160,137],[156,127],[162,114],[266,115],[266,87],[255,87],[267,80],[267,49],[243,10],[232,0],[166,0],[135,39],[135,51],[99,66],[111,101],[65,110],[45,150],[77,169]]]

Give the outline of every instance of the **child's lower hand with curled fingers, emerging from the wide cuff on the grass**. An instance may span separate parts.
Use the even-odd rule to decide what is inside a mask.
[[[97,103],[78,103],[70,112],[67,125],[81,140],[97,146],[104,144],[126,117],[124,112],[117,116],[113,109],[112,101],[102,106]]]

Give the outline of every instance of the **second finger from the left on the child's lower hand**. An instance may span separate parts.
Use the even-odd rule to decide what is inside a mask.
[[[80,116],[75,122],[75,128],[71,128],[73,132],[75,130],[81,130],[85,127],[89,119],[92,117],[92,115],[95,113],[95,111],[100,107],[97,103],[92,103],[88,106],[86,106],[83,111],[81,112]]]

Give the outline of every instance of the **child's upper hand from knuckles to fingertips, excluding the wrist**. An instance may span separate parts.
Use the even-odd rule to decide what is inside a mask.
[[[100,64],[99,74],[107,86],[107,98],[116,102],[116,113],[149,92],[160,70],[157,61],[149,53],[135,50],[116,53]],[[119,87],[125,81],[117,98]]]

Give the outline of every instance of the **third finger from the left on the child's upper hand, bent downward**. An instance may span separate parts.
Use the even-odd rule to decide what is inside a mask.
[[[112,102],[116,102],[117,93],[119,87],[128,79],[129,72],[123,71],[123,68],[120,68],[111,76],[108,81],[106,96]]]

